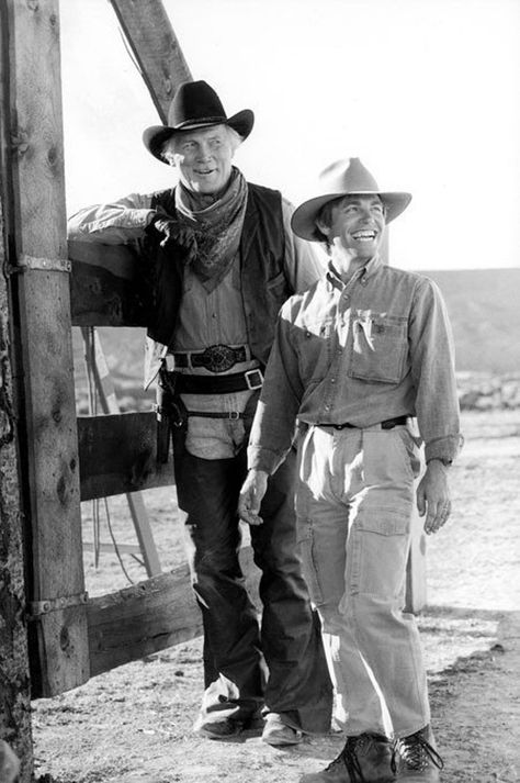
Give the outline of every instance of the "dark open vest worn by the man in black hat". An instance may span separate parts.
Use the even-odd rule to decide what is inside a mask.
[[[176,214],[174,189],[156,193],[152,209]],[[161,359],[174,336],[183,291],[182,249],[165,250],[147,243],[152,270],[152,322],[148,326],[145,388],[156,378]],[[280,307],[294,293],[284,272],[285,235],[279,191],[248,182],[248,201],[240,238],[240,280],[251,354],[265,365],[274,339]],[[207,347],[207,346],[206,346]]]

